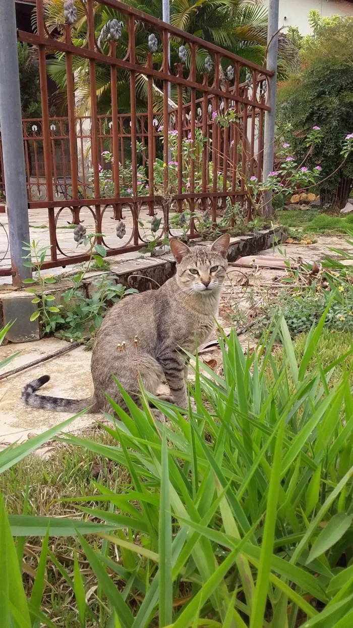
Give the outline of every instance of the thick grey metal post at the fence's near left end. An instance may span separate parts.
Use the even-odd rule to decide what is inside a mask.
[[[0,126],[14,286],[32,276],[23,265],[23,242],[29,242],[15,3],[0,2]]]

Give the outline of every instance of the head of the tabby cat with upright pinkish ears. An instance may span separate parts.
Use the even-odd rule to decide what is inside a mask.
[[[221,290],[228,266],[228,247],[228,234],[219,237],[212,246],[189,248],[180,240],[171,240],[178,286],[190,293],[205,295]]]

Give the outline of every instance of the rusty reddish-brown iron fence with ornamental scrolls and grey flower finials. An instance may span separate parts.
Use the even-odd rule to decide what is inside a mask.
[[[95,30],[98,4],[119,17],[108,23],[105,41]],[[36,33],[18,33],[19,41],[38,50],[42,117],[23,120],[23,138],[29,212],[48,215],[50,257],[44,267],[88,259],[83,245],[75,248],[72,237],[68,242],[68,232],[63,240],[60,227],[83,223],[87,231],[100,234],[97,242],[107,247],[108,255],[117,255],[139,250],[150,237],[177,236],[181,225],[188,238],[200,236],[201,222],[210,229],[229,229],[234,205],[243,207],[250,219],[248,187],[251,176],[261,179],[272,73],[115,0],[86,0],[82,7],[87,35],[80,46],[73,43],[77,16],[70,0],[63,3],[66,23],[63,19],[61,29],[50,32],[46,3],[36,0]],[[135,30],[141,24],[144,63],[135,50]],[[129,38],[124,57],[119,52],[122,30]],[[171,40],[177,41],[180,58],[173,67],[168,62]],[[201,73],[198,51],[207,55]],[[46,55],[53,52],[65,57],[65,117],[50,117],[48,107]],[[87,62],[86,116],[76,113],[75,58]],[[111,108],[104,116],[97,113],[97,65],[110,68]],[[128,114],[119,109],[120,70],[129,77]],[[145,112],[136,111],[138,75],[147,81]],[[168,100],[169,84],[176,86],[174,104]],[[163,95],[161,111],[155,111],[156,86]],[[5,196],[1,160],[0,145],[0,193]],[[183,219],[171,221],[171,212],[182,213]],[[156,214],[162,220],[150,231]],[[1,274],[11,274],[11,269],[0,268]]]

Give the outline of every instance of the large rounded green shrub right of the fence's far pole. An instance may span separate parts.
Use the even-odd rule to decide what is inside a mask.
[[[315,45],[302,53],[300,69],[278,90],[278,122],[299,161],[308,153],[305,137],[320,127],[322,140],[313,146],[309,163],[319,164],[324,176],[342,163],[344,138],[353,131],[352,28],[353,18],[320,26]],[[320,187],[322,202],[344,205],[352,175],[350,155]]]

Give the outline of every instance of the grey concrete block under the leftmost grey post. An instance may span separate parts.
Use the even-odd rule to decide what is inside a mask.
[[[30,321],[29,318],[36,311],[36,303],[31,303],[33,295],[12,293],[3,296],[4,325],[13,322],[6,334],[10,342],[32,342],[40,339],[39,319]]]

